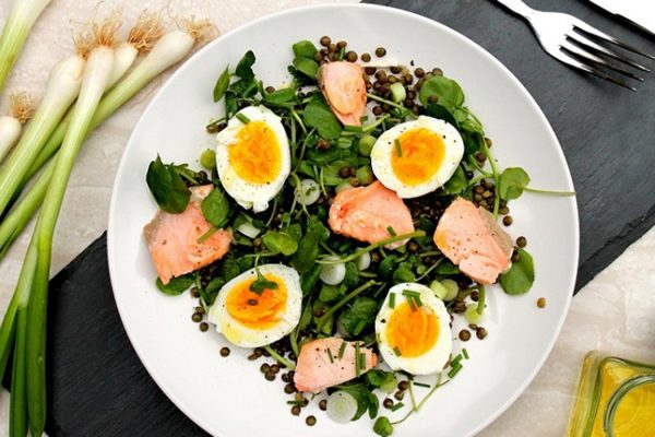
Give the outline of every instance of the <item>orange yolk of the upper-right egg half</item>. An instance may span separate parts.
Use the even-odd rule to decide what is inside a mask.
[[[391,153],[391,167],[401,182],[416,186],[434,176],[445,154],[440,134],[419,128],[404,132],[396,140]]]

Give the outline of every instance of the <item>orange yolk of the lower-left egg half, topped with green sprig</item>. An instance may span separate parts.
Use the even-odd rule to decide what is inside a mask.
[[[264,276],[267,281],[276,283],[277,288],[265,288],[259,295],[250,290],[255,280],[247,280],[235,285],[225,302],[227,312],[245,327],[270,329],[277,324],[284,315],[287,302],[284,281],[274,274]]]

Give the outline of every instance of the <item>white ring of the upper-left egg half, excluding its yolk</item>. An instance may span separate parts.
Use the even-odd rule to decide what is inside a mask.
[[[284,186],[291,170],[289,141],[287,139],[281,118],[264,106],[249,106],[239,110],[250,121],[263,121],[272,129],[277,139],[281,152],[279,174],[267,184],[254,184],[243,180],[229,164],[228,147],[237,142],[239,131],[246,126],[237,117],[233,117],[227,127],[216,135],[216,169],[225,191],[242,208],[254,212],[265,211],[269,201],[275,197]]]

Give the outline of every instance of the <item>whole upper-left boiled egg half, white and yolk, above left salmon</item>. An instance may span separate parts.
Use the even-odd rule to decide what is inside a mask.
[[[266,210],[291,169],[281,118],[264,106],[249,106],[229,120],[216,141],[216,169],[225,191],[247,210]]]

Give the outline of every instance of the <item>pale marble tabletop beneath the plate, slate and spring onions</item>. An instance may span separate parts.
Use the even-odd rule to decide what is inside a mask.
[[[21,1],[21,0],[14,0]],[[342,0],[353,2],[353,0]],[[128,17],[140,11],[164,15],[207,16],[229,31],[257,16],[321,0],[107,0]],[[334,1],[333,1],[334,2]],[[0,23],[9,1],[0,2]],[[72,50],[72,29],[80,28],[97,7],[95,0],[53,0],[36,24],[8,91],[43,92],[50,68]],[[52,272],[59,271],[106,228],[116,167],[127,139],[153,92],[166,78],[123,107],[91,135],[73,172],[55,239]],[[7,93],[4,93],[7,94]],[[0,99],[0,114],[7,99]],[[9,303],[27,244],[25,233],[0,263],[0,315]],[[631,246],[590,283],[573,305],[546,365],[525,393],[480,436],[562,436],[584,354],[603,349],[655,363],[655,229]],[[547,310],[547,309],[546,309]],[[8,393],[0,392],[0,437],[8,435]]]

